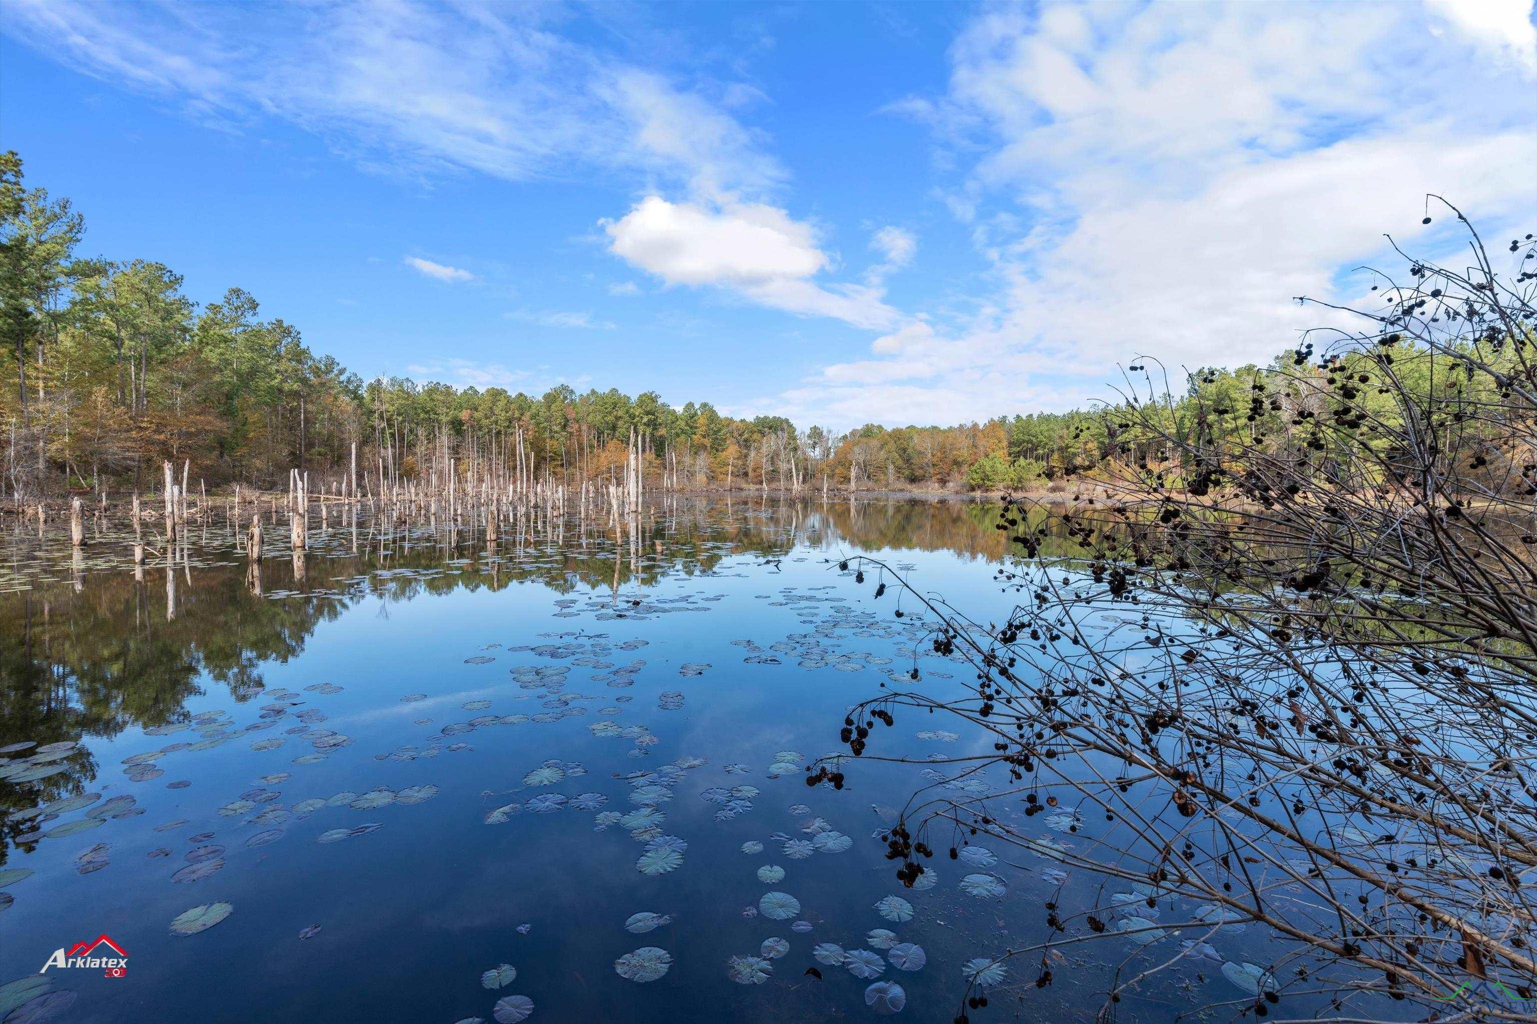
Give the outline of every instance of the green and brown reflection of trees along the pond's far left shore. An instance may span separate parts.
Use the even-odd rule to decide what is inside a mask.
[[[644,589],[707,575],[730,557],[782,557],[796,541],[998,560],[1005,537],[988,512],[970,501],[672,498],[649,510],[635,538],[616,540],[604,521],[535,518],[513,523],[495,549],[473,524],[449,532],[381,517],[360,526],[355,554],[350,530],[317,530],[303,567],[267,558],[255,587],[240,564],[188,567],[180,555],[169,581],[164,566],[151,566],[143,580],[124,569],[43,583],[0,598],[0,746],[183,721],[188,700],[209,683],[251,700],[261,690],[263,663],[297,657],[321,621],[369,598],[530,583],[558,595]],[[200,554],[227,552],[232,537],[201,530]],[[45,555],[69,558],[54,549]],[[35,783],[0,781],[0,809],[14,813],[85,792],[97,778],[94,758],[80,749],[68,764]],[[0,844],[35,824],[8,821]]]

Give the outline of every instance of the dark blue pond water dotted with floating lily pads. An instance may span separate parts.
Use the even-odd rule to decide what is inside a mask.
[[[891,981],[901,1018],[948,1021],[962,964],[1045,938],[1050,847],[1014,866],[938,858],[921,892],[893,876],[876,836],[953,766],[861,763],[842,792],[801,769],[839,752],[845,709],[891,673],[918,666],[944,693],[965,672],[933,655],[921,609],[895,618],[896,592],[876,600],[838,560],[876,554],[987,609],[1004,552],[985,506],[684,503],[633,543],[601,527],[521,523],[487,550],[478,530],[317,517],[303,566],[284,550],[260,578],[221,518],[138,578],[121,524],[97,524],[81,558],[57,535],[8,535],[0,747],[35,746],[0,753],[0,984],[75,995],[15,1019],[453,1024],[526,996],[533,1021],[844,1021],[875,1018],[867,987]],[[908,715],[881,753],[987,744],[953,727]],[[885,896],[907,909],[884,916]],[[788,916],[759,910],[776,903]],[[218,904],[227,918],[172,933]],[[670,921],[627,930],[642,912]],[[871,944],[875,929],[895,936]],[[100,935],[126,976],[37,978]],[[765,956],[770,939],[788,952]],[[882,973],[816,959],[822,943]],[[916,955],[891,943],[925,962],[904,970]],[[1054,956],[1050,989],[1016,961],[987,1019],[1087,1019],[1107,972],[1159,955],[1113,946]],[[642,947],[666,950],[666,975],[619,976]],[[772,973],[738,984],[732,956]],[[500,964],[516,976],[484,987]],[[1245,998],[1205,967],[1214,981],[1179,969],[1122,1018]]]

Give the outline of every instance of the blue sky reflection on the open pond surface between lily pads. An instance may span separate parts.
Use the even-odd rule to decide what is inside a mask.
[[[954,520],[959,514],[951,509],[945,515]],[[944,592],[962,607],[988,607],[999,600],[987,566],[971,561],[973,554],[991,543],[982,530],[973,530],[981,540],[973,538],[973,532],[956,532],[964,543],[953,544],[956,550],[945,550],[944,538],[933,530],[933,512],[913,520],[884,515],[879,521],[879,535],[865,540],[865,547],[876,552],[884,544],[938,547],[887,552],[896,563],[916,566],[911,578],[922,589]],[[915,521],[927,526],[919,530]],[[778,527],[770,515],[756,529],[773,535]],[[956,530],[953,523],[950,529]],[[927,534],[919,537],[924,530]],[[575,543],[573,534],[567,534],[567,540]],[[664,546],[669,543],[667,537],[661,540]],[[603,541],[599,537],[590,543]],[[74,836],[43,839],[35,847],[9,849],[5,867],[29,867],[35,876],[8,889],[15,904],[0,915],[6,936],[0,944],[0,984],[35,972],[58,946],[108,933],[129,952],[128,978],[109,981],[98,972],[60,972],[55,986],[80,993],[68,1019],[449,1024],[473,1016],[490,1019],[496,998],[513,993],[533,999],[535,1021],[864,1019],[873,1016],[864,1001],[870,981],[818,962],[812,947],[838,943],[845,950],[864,949],[871,929],[887,927],[896,932],[898,941],[918,944],[927,953],[919,970],[899,970],[881,953],[885,961],[881,979],[905,989],[904,1016],[950,1019],[964,989],[962,962],[1044,938],[1041,903],[1051,886],[1041,875],[1050,861],[1030,855],[1010,858],[1024,870],[956,863],[945,856],[948,838],[931,836],[930,844],[939,850],[931,861],[939,884],[927,892],[907,890],[893,878],[896,864],[884,858],[885,847],[871,832],[882,824],[881,810],[890,820],[891,809],[901,807],[907,793],[925,781],[918,767],[856,764],[842,792],[808,789],[793,775],[767,778],[765,769],[779,750],[798,750],[807,758],[836,750],[845,707],[876,693],[884,678],[876,666],[859,672],[833,666],[805,670],[796,666],[793,653],[779,655],[784,664],[749,664],[744,663],[749,652],[732,644],[733,640],[753,640],[768,647],[790,633],[807,633],[812,627],[801,621],[804,607],[818,609],[818,615],[805,617],[818,621],[824,621],[830,609],[845,607],[875,610],[884,623],[891,623],[895,592],[871,600],[873,580],[856,587],[848,575],[841,577],[825,563],[827,554],[833,552],[825,550],[825,544],[818,544],[816,550],[801,547],[778,569],[761,564],[759,554],[739,554],[719,561],[713,575],[675,574],[652,586],[624,584],[621,597],[664,601],[693,595],[696,600],[684,607],[705,609],[656,615],[649,621],[598,621],[589,600],[607,598],[609,590],[589,586],[595,581],[576,575],[567,577],[570,589],[566,593],[529,583],[500,590],[483,586],[421,592],[413,600],[358,598],[335,617],[317,621],[303,640],[301,653],[260,666],[267,692],[280,687],[300,692],[304,703],[298,707],[320,709],[327,716],[317,727],[354,740],[352,746],[317,764],[292,764],[295,756],[312,749],[303,735],[286,736],[275,750],[249,749],[254,740],[283,736],[284,729],[295,724],[289,716],[275,729],[241,735],[214,750],[171,753],[157,763],[164,769],[163,776],[135,784],[118,775],[123,758],[197,736],[188,732],[146,736],[129,727],[105,740],[88,732],[83,740],[98,764],[97,778],[88,781],[88,787],[103,796],[132,793],[146,813],[108,821]],[[549,547],[536,555],[547,560]],[[506,546],[503,557],[515,561]],[[335,564],[343,577],[369,567],[363,563],[360,569],[352,560]],[[281,566],[274,575],[280,572]],[[329,586],[334,572],[338,569],[326,558],[312,557],[309,586]],[[194,569],[194,583],[183,600],[195,600],[211,583],[240,581],[241,574],[238,567]],[[604,574],[593,575],[601,578]],[[842,603],[775,606],[782,587],[808,592],[830,584],[833,589],[816,593],[844,598]],[[88,577],[86,593],[91,586]],[[294,584],[284,581],[281,586]],[[280,589],[280,584],[269,581],[267,589]],[[229,592],[244,595],[238,587]],[[724,598],[698,600],[713,595]],[[576,598],[572,610],[579,615],[555,617],[561,609],[553,601],[561,597]],[[144,615],[163,613],[163,606],[149,604],[154,610],[146,609]],[[619,607],[626,607],[622,601]],[[911,604],[908,610],[915,610]],[[6,621],[15,621],[12,612],[6,612]],[[60,610],[54,607],[51,613],[57,617]],[[229,615],[241,613],[243,606],[231,601]],[[616,647],[603,658],[616,666],[644,660],[644,669],[632,677],[633,686],[610,689],[589,678],[606,669],[572,667],[566,692],[596,698],[575,701],[587,709],[586,715],[549,724],[484,726],[429,744],[443,726],[476,715],[546,710],[541,701],[547,693],[521,689],[510,669],[569,666],[570,660],[506,647],[559,643],[539,635],[578,629],[606,633],[615,647],[630,638],[649,641],[638,650]],[[847,627],[839,629],[836,638],[818,640],[838,652],[895,658],[890,669],[904,667],[901,649],[911,649],[911,640],[859,637]],[[487,644],[501,647],[487,649]],[[476,655],[495,661],[466,663]],[[687,663],[710,667],[702,675],[679,675],[679,666]],[[942,666],[933,657],[925,658],[924,666],[925,670],[965,672],[964,666]],[[184,701],[188,713],[229,710],[238,727],[255,721],[260,706],[267,703],[258,695],[237,704],[229,687],[206,678],[200,683],[203,692]],[[343,690],[306,692],[304,687],[317,683],[332,683]],[[128,684],[132,686],[132,680]],[[930,692],[944,686],[945,681],[933,677],[924,683]],[[681,692],[682,707],[658,709],[658,695],[664,692]],[[407,693],[426,693],[426,700],[400,703]],[[618,704],[619,715],[598,713],[619,695],[633,698]],[[490,701],[490,707],[461,710],[461,704],[480,700]],[[432,724],[415,724],[420,718],[430,718]],[[644,724],[658,743],[647,749],[647,756],[629,756],[632,741],[590,732],[589,726],[598,721],[615,721],[621,727]],[[922,758],[941,747],[945,753],[964,753],[968,741],[982,749],[985,741],[979,736],[962,735],[953,744],[916,738],[925,729],[947,727],[956,724],[898,710],[896,727],[890,735],[882,733],[879,753]],[[5,735],[6,741],[22,738],[9,729]],[[449,752],[450,743],[467,743],[473,749]],[[443,750],[435,758],[415,761],[377,760],[404,744]],[[686,772],[673,787],[673,798],[659,806],[667,815],[661,830],[689,844],[682,866],[670,873],[639,873],[636,858],[644,844],[619,826],[595,832],[593,812],[567,807],[536,815],[524,810],[503,824],[483,824],[492,809],[510,801],[526,804],[546,792],[566,796],[601,792],[609,796],[604,810],[626,813],[635,806],[629,800],[630,786],[615,778],[616,773],[655,769],[686,755],[707,758],[709,764]],[[524,775],[547,758],[578,761],[587,773],[549,787],[523,786]],[[722,770],[729,763],[745,763],[752,773],[729,775]],[[274,772],[292,776],[272,786],[281,796],[267,807],[292,807],[341,790],[363,793],[377,786],[400,790],[430,783],[440,792],[417,806],[392,804],[375,810],[327,806],[307,818],[287,821],[283,826],[286,836],[277,843],[247,849],[246,839],[266,826],[249,823],[255,812],[226,818],[217,809],[261,786],[258,776]],[[192,786],[166,789],[164,784],[174,780],[191,780]],[[719,804],[701,800],[699,793],[738,784],[759,787],[753,809],[730,821],[716,821]],[[807,804],[810,813],[788,813],[795,804]],[[69,821],[71,815],[60,821]],[[822,816],[851,836],[853,847],[844,853],[816,852],[805,859],[785,856],[782,841],[770,835],[784,832],[792,839],[810,839],[801,824],[812,816]],[[171,832],[152,830],[174,818],[188,818],[191,824]],[[326,830],[364,823],[383,827],[338,843],[315,841]],[[8,826],[11,836],[18,830]],[[200,832],[214,832],[209,843],[227,847],[224,869],[201,881],[172,884],[169,876],[184,864],[183,853],[195,846],[189,836]],[[1054,835],[1045,829],[1039,833]],[[744,853],[741,846],[749,839],[764,843],[765,849]],[[95,843],[109,844],[111,864],[78,876],[74,858]],[[172,856],[146,856],[157,847],[169,847]],[[782,867],[784,878],[773,884],[759,881],[758,870],[765,864]],[[1008,881],[1002,899],[976,898],[961,889],[964,875],[987,870]],[[756,907],[770,889],[792,893],[801,904],[799,916],[784,921],[764,915],[744,918],[744,907]],[[910,901],[915,918],[907,923],[882,918],[875,904],[887,895]],[[178,913],[212,901],[234,904],[229,919],[188,938],[168,932]],[[627,932],[626,919],[642,910],[672,915],[673,921],[644,935]],[[810,923],[812,930],[793,930],[796,919]],[[314,924],[321,930],[301,941],[300,932]],[[516,930],[521,924],[530,926],[527,933]],[[762,986],[732,984],[727,958],[756,956],[770,936],[785,939],[790,947],[787,955],[770,961],[772,978]],[[615,959],[644,946],[672,955],[669,972],[649,984],[619,978]],[[1025,1012],[1039,1019],[1088,1013],[1090,1001],[1079,986],[1097,990],[1093,979],[1102,970],[1099,958],[1131,952],[1130,943],[1114,950],[1107,946],[1104,953],[1071,949],[1068,961],[1054,962],[1057,982],[1048,990],[1028,984],[1034,966],[1016,959],[1010,966],[1011,981],[1022,981],[1025,987],[996,993],[993,1013],[1016,998],[1024,998]],[[1096,966],[1076,967],[1077,958],[1085,956],[1094,956]],[[904,950],[904,958],[915,961],[910,950]],[[496,992],[483,989],[481,973],[503,962],[516,967],[516,979]],[[825,979],[802,973],[813,966]],[[1180,973],[1193,978],[1194,972]],[[1220,990],[1207,998],[1237,995]],[[1167,1001],[1128,999],[1124,1006],[1128,1016],[1167,1016],[1185,999],[1188,996],[1171,993]]]

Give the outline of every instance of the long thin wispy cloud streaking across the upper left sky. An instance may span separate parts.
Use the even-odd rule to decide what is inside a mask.
[[[243,128],[278,117],[377,171],[509,180],[618,171],[750,192],[784,178],[719,101],[635,66],[612,37],[603,49],[555,31],[569,20],[555,8],[413,0],[14,0],[0,26],[200,120]]]

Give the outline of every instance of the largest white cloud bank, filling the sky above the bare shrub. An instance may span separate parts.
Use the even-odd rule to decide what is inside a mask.
[[[994,291],[974,315],[908,321],[871,358],[824,367],[779,409],[1027,412],[1107,395],[1139,354],[1174,372],[1268,360],[1323,321],[1294,295],[1348,297],[1353,266],[1396,264],[1383,232],[1429,255],[1465,243],[1449,217],[1420,226],[1426,192],[1485,237],[1529,218],[1529,6],[1388,11],[979,14],[947,94],[893,109],[931,126],[941,165],[967,161],[944,198]],[[921,414],[893,404],[924,394]]]

